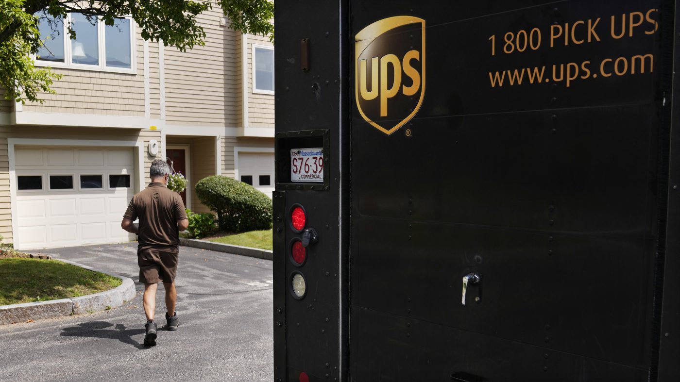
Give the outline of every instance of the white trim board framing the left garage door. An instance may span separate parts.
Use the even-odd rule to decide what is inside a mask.
[[[16,162],[14,160],[14,146],[99,146],[99,147],[137,147],[135,156],[135,175],[137,185],[135,190],[139,192],[144,188],[144,141],[131,139],[128,141],[105,141],[94,139],[33,139],[33,138],[7,138],[7,156],[10,173],[10,207],[12,210],[12,242],[16,245],[17,211],[16,211]],[[19,243],[20,244],[20,243]],[[16,248],[16,247],[15,247]]]

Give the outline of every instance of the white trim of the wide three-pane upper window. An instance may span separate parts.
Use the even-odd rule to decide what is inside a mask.
[[[69,38],[69,35],[67,33],[67,25],[71,25],[71,14],[69,13],[66,18],[64,19],[63,22],[63,31],[62,35],[64,36],[64,62],[63,63],[58,63],[54,61],[43,61],[39,60],[33,55],[33,60],[35,63],[35,66],[37,67],[54,67],[54,68],[66,68],[66,69],[78,69],[78,70],[88,70],[88,71],[105,71],[105,72],[112,72],[112,73],[128,73],[128,74],[136,74],[137,73],[137,47],[135,46],[135,37],[137,31],[135,30],[135,20],[133,20],[130,16],[123,16],[123,17],[118,17],[118,18],[126,18],[130,20],[130,60],[131,60],[131,68],[126,69],[126,68],[117,68],[117,67],[107,67],[106,66],[106,37],[104,35],[105,33],[105,24],[104,22],[98,18],[97,20],[97,44],[99,47],[99,65],[84,65],[84,64],[74,64],[71,62],[71,44],[73,41]]]

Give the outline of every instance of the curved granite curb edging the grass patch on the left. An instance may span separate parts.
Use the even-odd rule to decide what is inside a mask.
[[[101,271],[92,268],[91,266],[86,266],[70,260],[58,258],[54,258],[54,260],[80,266],[81,268],[86,268],[90,271],[105,273],[117,277],[123,282],[112,290],[88,294],[87,296],[0,306],[0,325],[27,322],[29,319],[35,321],[36,319],[103,311],[120,307],[124,302],[132,300],[135,297],[135,294],[137,294],[135,282],[128,277],[114,275],[113,273]]]

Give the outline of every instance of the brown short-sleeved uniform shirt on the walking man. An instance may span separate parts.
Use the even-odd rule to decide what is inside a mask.
[[[129,220],[139,218],[137,251],[148,248],[177,250],[180,245],[177,221],[186,219],[184,202],[180,194],[168,190],[165,184],[152,183],[133,196],[124,217]]]

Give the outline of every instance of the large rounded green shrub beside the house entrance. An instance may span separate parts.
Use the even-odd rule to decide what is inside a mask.
[[[220,230],[245,232],[271,228],[271,199],[242,181],[213,175],[196,184],[201,203],[217,213]]]

